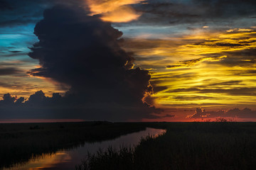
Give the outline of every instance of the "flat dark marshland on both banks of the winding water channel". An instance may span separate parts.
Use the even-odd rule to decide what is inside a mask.
[[[164,128],[137,147],[88,154],[78,170],[255,169],[256,123],[17,123],[0,124],[0,169],[26,163],[43,153],[110,140],[130,132]],[[87,154],[87,153],[85,153]],[[75,169],[75,167],[74,167]]]

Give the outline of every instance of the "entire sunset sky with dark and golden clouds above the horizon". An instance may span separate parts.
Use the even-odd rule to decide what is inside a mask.
[[[0,0],[0,16],[2,122],[256,120],[253,0]]]

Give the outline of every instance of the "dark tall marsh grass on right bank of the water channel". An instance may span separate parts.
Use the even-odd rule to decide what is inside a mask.
[[[169,123],[135,148],[88,155],[77,169],[256,169],[256,123]]]

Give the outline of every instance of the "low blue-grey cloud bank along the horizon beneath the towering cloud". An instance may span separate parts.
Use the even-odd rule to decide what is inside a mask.
[[[10,94],[11,100],[0,101],[0,116],[2,119],[83,119],[83,120],[140,120],[142,118],[156,118],[160,109],[149,108],[148,106],[124,106],[119,103],[70,103],[70,98],[53,94],[45,96],[43,91],[37,91],[27,101],[25,98],[14,97]],[[6,97],[5,97],[6,98]],[[72,98],[73,99],[73,98]]]

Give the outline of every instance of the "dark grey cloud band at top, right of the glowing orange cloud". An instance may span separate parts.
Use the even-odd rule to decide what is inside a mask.
[[[148,0],[134,8],[143,12],[139,21],[146,23],[198,23],[225,21],[228,18],[256,16],[256,2],[253,0]]]

